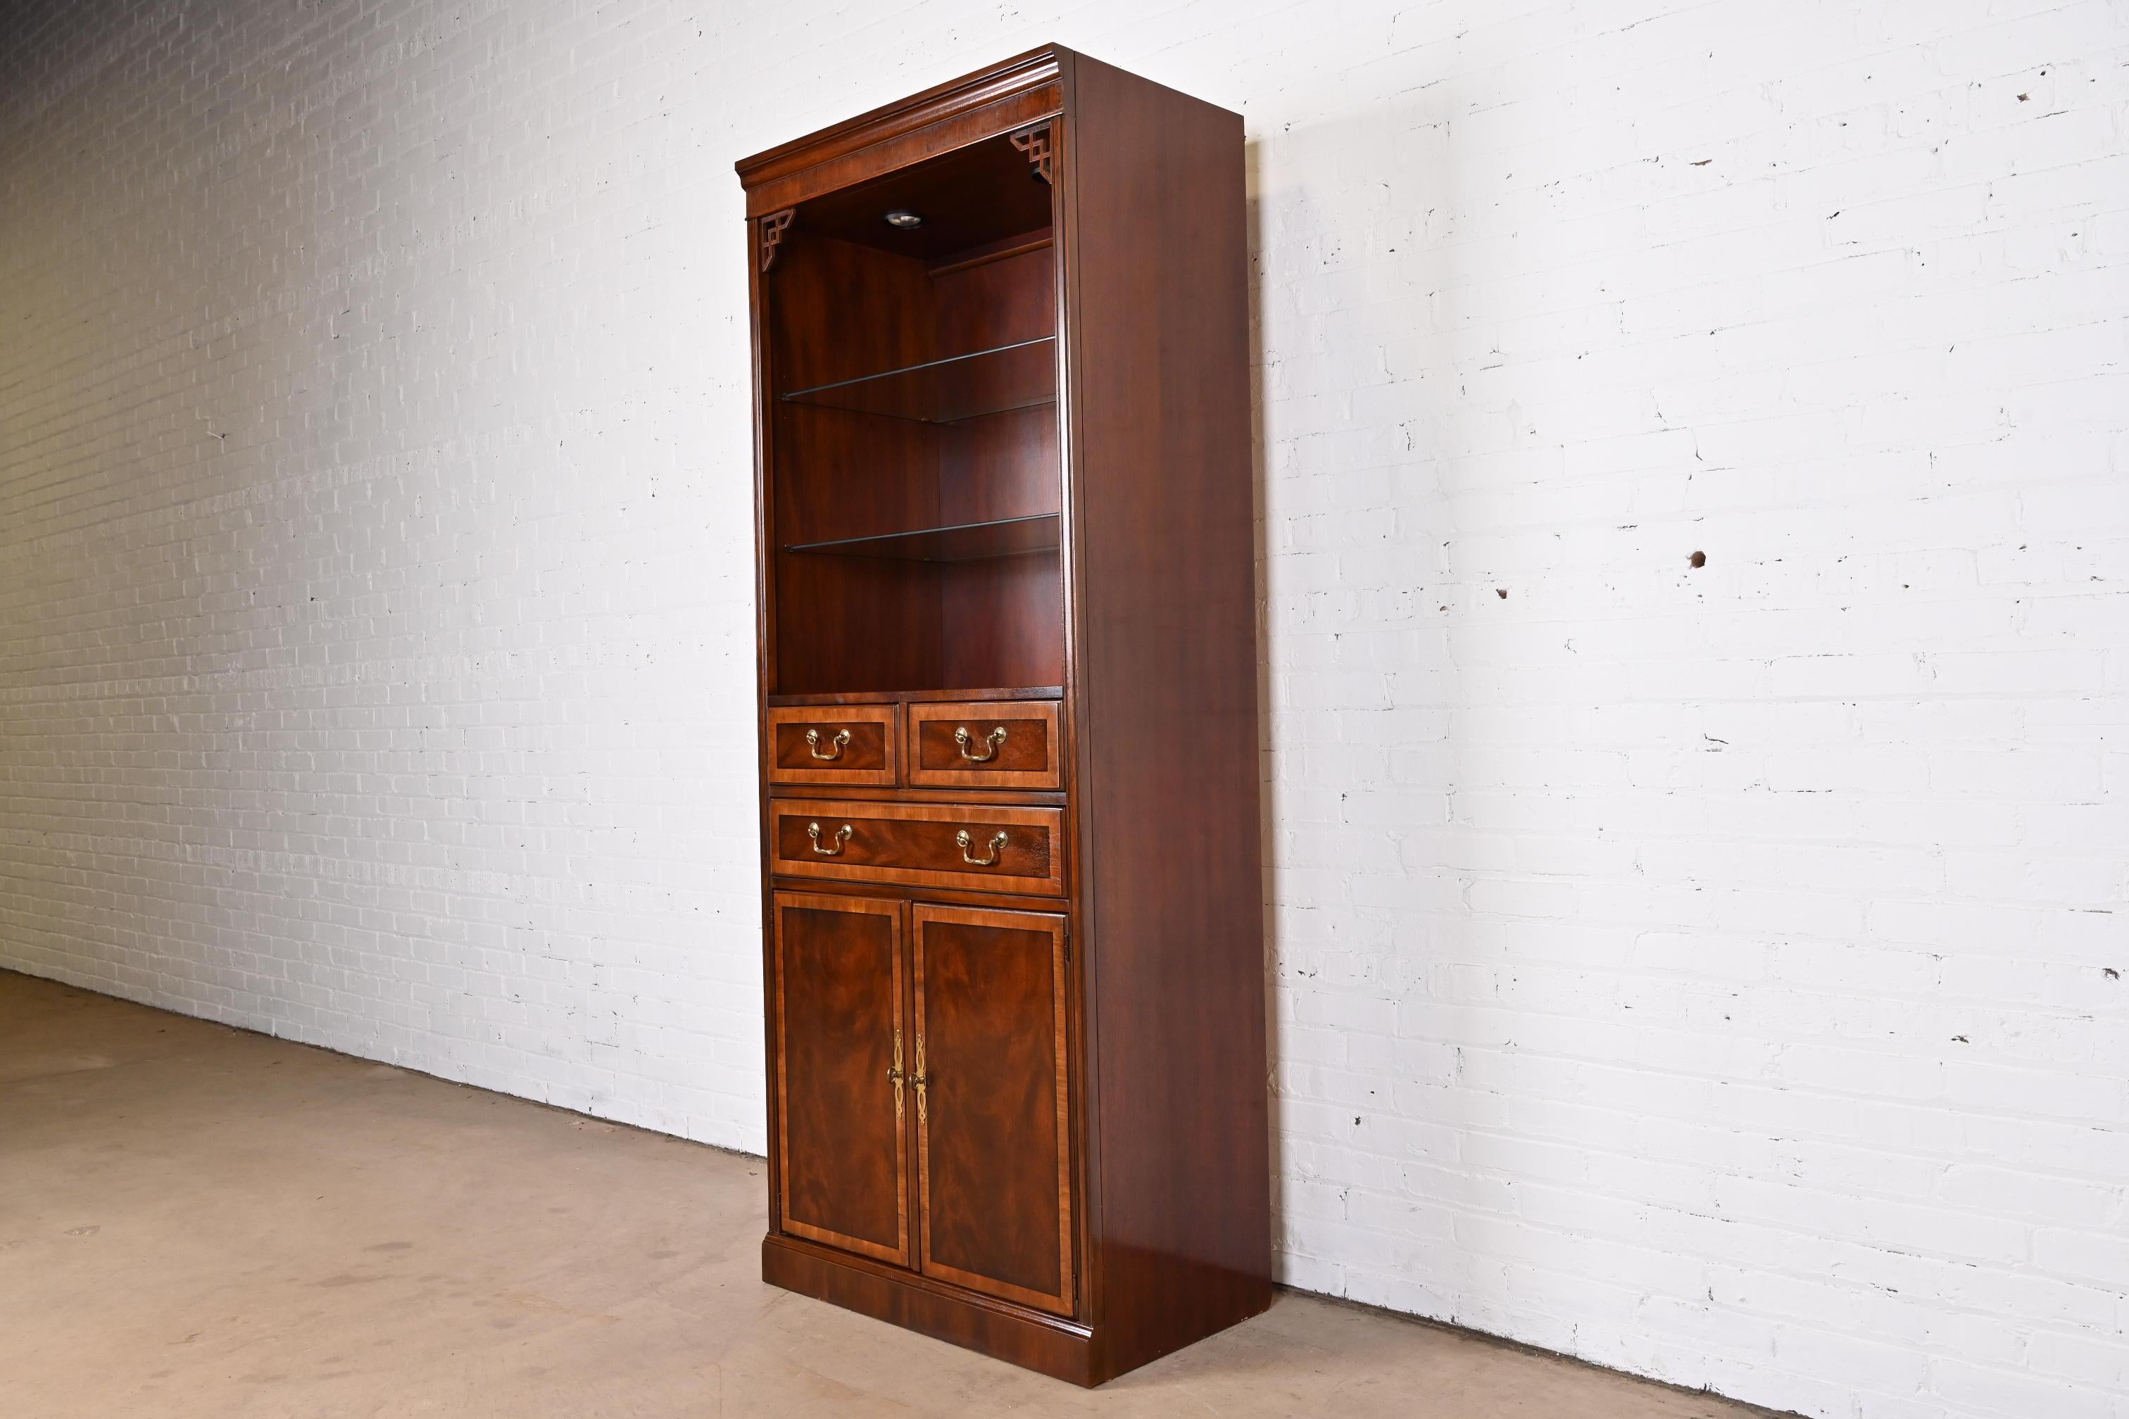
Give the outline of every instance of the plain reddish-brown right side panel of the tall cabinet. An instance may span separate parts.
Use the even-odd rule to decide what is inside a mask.
[[[1088,1279],[1122,1372],[1271,1302],[1241,117],[1073,55],[1062,162]]]

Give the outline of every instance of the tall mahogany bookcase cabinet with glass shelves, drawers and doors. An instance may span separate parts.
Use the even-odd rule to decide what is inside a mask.
[[[739,177],[762,1274],[1099,1385],[1271,1302],[1241,119],[1050,47]]]

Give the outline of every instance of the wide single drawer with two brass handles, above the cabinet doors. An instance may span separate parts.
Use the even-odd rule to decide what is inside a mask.
[[[790,877],[1064,896],[1062,808],[779,798],[771,815]]]

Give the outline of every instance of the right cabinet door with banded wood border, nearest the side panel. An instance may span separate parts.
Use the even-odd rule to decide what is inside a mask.
[[[1064,917],[915,906],[920,1270],[1071,1313]]]

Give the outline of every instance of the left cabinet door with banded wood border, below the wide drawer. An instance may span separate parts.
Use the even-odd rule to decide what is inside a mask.
[[[783,1230],[909,1266],[903,904],[779,891]]]

